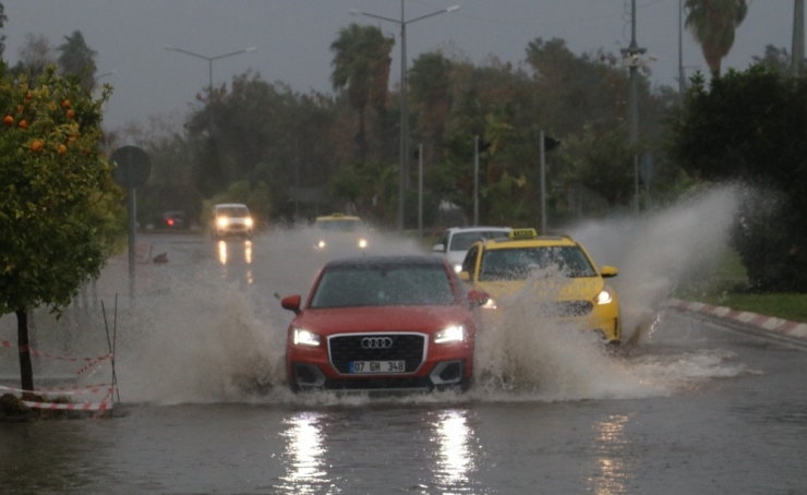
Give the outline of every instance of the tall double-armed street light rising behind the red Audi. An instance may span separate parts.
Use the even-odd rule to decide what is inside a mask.
[[[407,24],[412,24],[427,17],[456,12],[459,5],[453,5],[447,9],[432,12],[431,14],[406,20],[404,14],[404,0],[400,0],[400,19],[385,17],[383,15],[370,14],[358,10],[350,10],[351,15],[366,15],[368,17],[380,19],[400,25],[400,179],[398,181],[398,230],[404,230],[404,195],[409,188],[409,92],[407,83]]]

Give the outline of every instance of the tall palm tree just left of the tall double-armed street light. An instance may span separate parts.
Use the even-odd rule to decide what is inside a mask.
[[[334,89],[347,87],[350,106],[359,113],[359,131],[356,142],[359,159],[364,160],[368,152],[365,132],[365,109],[374,100],[375,106],[385,101],[380,97],[380,85],[389,79],[389,53],[395,39],[385,37],[375,26],[361,26],[352,23],[339,31],[339,37],[330,45],[334,72],[330,82]],[[386,94],[386,84],[384,84]]]

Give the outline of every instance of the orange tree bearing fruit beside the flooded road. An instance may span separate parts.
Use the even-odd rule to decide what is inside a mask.
[[[59,312],[125,232],[98,149],[101,105],[50,68],[34,84],[0,63],[0,315],[15,313],[22,388],[34,389],[28,312]]]

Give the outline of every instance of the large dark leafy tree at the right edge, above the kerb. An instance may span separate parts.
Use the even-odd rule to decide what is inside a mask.
[[[690,176],[750,191],[733,242],[754,289],[807,291],[807,80],[764,64],[695,80],[671,131]]]

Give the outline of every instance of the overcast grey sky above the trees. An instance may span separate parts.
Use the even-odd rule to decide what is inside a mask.
[[[658,57],[654,84],[677,85],[679,0],[637,0],[637,41]],[[176,46],[205,57],[248,47],[252,53],[216,60],[214,84],[248,69],[293,89],[332,92],[332,53],[338,31],[351,22],[380,25],[395,35],[390,84],[400,68],[400,26],[350,9],[400,19],[400,0],[3,0],[9,17],[5,59],[12,64],[26,33],[58,46],[79,29],[98,52],[101,81],[115,86],[105,124],[146,123],[148,116],[186,112],[207,85],[206,60],[167,51]],[[407,27],[409,63],[424,51],[446,49],[477,63],[490,56],[518,63],[537,37],[563,38],[575,53],[618,52],[630,41],[630,0],[406,0],[406,19],[450,5],[460,10]],[[767,45],[791,49],[793,0],[749,0],[723,68],[744,70]],[[706,69],[700,48],[684,32],[684,65]]]

